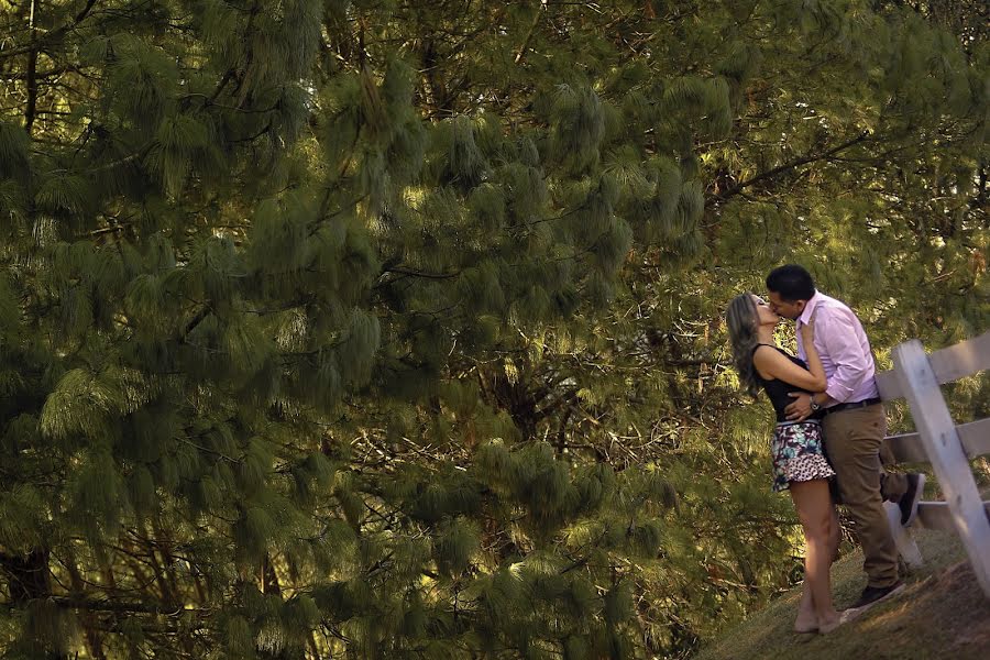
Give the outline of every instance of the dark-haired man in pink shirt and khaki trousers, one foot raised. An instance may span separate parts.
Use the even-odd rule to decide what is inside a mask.
[[[801,266],[780,266],[767,276],[770,308],[796,321],[798,354],[804,360],[800,329],[814,317],[815,348],[827,386],[815,395],[793,393],[790,419],[805,419],[824,409],[825,454],[836,473],[838,496],[856,522],[862,546],[867,586],[853,607],[865,607],[903,588],[898,550],[883,501],[898,503],[901,524],[911,525],[924,490],[923,474],[894,474],[880,461],[887,416],[877,388],[876,364],[862,323],[846,305],[816,292]],[[886,449],[883,450],[886,451]]]

